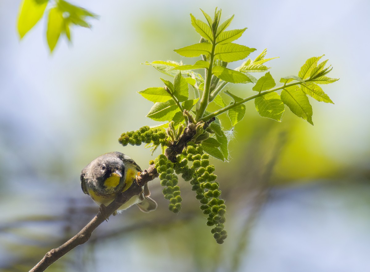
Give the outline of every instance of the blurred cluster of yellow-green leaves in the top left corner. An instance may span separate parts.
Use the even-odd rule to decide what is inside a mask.
[[[23,38],[47,13],[45,11],[48,3],[48,0],[24,0],[21,3],[18,18],[18,33],[20,38]],[[46,39],[50,52],[53,52],[60,36],[63,34],[71,42],[71,26],[91,28],[91,25],[87,22],[87,18],[98,18],[96,14],[82,7],[74,6],[64,0],[56,0],[55,4],[51,4],[50,6],[46,30]]]

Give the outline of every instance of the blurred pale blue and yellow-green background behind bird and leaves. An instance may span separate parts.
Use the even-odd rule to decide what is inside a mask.
[[[340,78],[323,85],[335,105],[310,99],[311,126],[289,110],[282,123],[261,118],[246,104],[229,133],[231,161],[213,161],[228,207],[224,244],[188,183],[179,182],[184,201],[175,215],[154,180],[157,211],[131,207],[111,217],[47,271],[369,271],[369,1],[71,3],[100,20],[90,20],[91,31],[73,28],[73,45],[63,38],[49,54],[45,18],[19,41],[20,1],[0,0],[1,271],[28,271],[97,213],[79,181],[92,159],[120,151],[148,166],[148,149],[117,140],[156,124],[137,91],[162,86],[164,75],[141,63],[194,62],[173,50],[199,40],[189,13],[203,20],[199,8],[212,15],[216,6],[224,20],[235,14],[230,29],[248,27],[237,42],[257,48],[250,58],[265,48],[266,58],[280,57],[268,62],[276,82],[325,54],[329,76]]]

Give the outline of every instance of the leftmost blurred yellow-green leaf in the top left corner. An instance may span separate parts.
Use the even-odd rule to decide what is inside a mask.
[[[41,17],[43,17],[47,2],[47,0],[24,0],[21,3],[18,18],[18,33],[20,38],[23,38]]]

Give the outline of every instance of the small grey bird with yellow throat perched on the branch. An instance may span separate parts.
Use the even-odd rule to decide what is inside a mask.
[[[119,193],[131,186],[138,172],[142,172],[140,167],[125,154],[105,153],[81,171],[81,188],[96,204],[108,206]],[[148,184],[145,184],[140,194],[130,198],[117,211],[126,210],[134,204],[144,213],[154,211],[157,203],[149,196]],[[117,211],[113,215],[116,215]]]

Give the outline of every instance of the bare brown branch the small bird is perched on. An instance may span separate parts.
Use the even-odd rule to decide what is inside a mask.
[[[91,237],[92,232],[108,217],[114,213],[122,204],[126,203],[131,197],[138,195],[141,192],[141,187],[144,186],[151,180],[154,180],[158,177],[157,169],[155,169],[154,164],[149,166],[148,170],[144,170],[140,174],[140,176],[136,177],[136,182],[132,183],[131,187],[128,188],[123,193],[119,194],[117,198],[109,204],[107,207],[101,205],[99,208],[98,214],[83,228],[80,232],[78,232],[74,237],[69,239],[63,245],[59,246],[58,248],[51,249],[44,258],[37,263],[30,270],[30,272],[36,271],[44,271],[48,268],[52,263],[57,261],[60,257],[67,254],[67,252],[71,251],[78,245],[82,245],[88,241]]]

